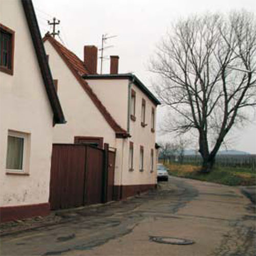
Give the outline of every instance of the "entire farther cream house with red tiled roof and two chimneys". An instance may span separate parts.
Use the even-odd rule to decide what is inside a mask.
[[[84,142],[116,148],[114,199],[156,184],[155,120],[160,102],[132,74],[98,75],[95,46],[84,47],[84,60],[46,34],[44,45],[57,94],[68,123],[54,128],[55,143]],[[83,76],[84,75],[84,76]]]

